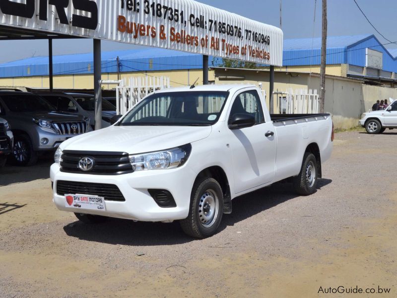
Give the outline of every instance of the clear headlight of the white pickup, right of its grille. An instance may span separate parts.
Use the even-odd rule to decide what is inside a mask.
[[[134,171],[156,170],[156,169],[174,169],[183,165],[189,158],[192,151],[192,145],[130,155],[130,163]]]

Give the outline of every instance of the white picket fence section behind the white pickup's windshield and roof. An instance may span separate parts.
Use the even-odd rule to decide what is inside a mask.
[[[170,87],[168,76],[130,77],[116,88],[117,115],[124,115],[143,97],[150,93]]]

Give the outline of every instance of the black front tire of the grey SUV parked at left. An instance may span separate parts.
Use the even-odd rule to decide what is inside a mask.
[[[32,141],[27,135],[17,135],[12,150],[13,162],[18,166],[30,166],[37,162],[38,152],[33,150]]]

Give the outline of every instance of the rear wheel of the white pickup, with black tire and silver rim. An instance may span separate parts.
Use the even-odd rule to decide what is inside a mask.
[[[305,152],[301,171],[298,176],[294,177],[293,182],[298,194],[308,196],[317,191],[318,170],[316,157],[310,152]]]

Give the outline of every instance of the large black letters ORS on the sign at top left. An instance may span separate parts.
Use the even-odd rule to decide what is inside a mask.
[[[69,6],[69,0],[26,0],[25,3],[17,3],[11,0],[0,0],[0,9],[4,14],[33,18],[36,1],[39,1],[39,19],[47,21],[48,5],[55,6],[61,24],[68,25],[69,21],[65,9]],[[85,11],[91,16],[72,14],[71,25],[74,27],[95,30],[98,26],[98,6],[92,0],[72,0],[73,7]]]

